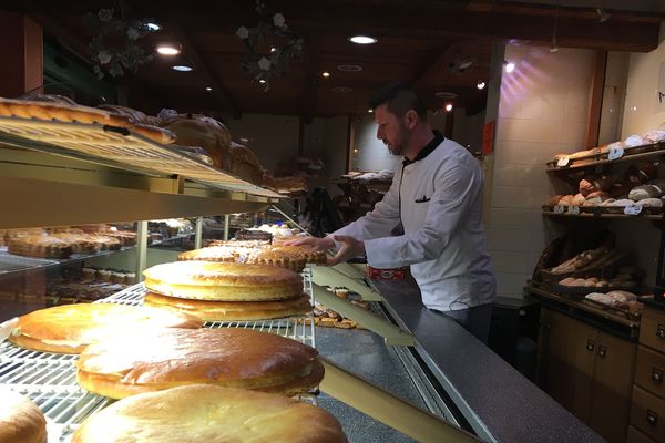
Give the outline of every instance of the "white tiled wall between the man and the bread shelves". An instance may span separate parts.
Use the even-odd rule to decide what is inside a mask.
[[[507,47],[501,81],[488,249],[500,297],[521,297],[546,245],[541,206],[554,194],[545,162],[584,148],[593,53]]]

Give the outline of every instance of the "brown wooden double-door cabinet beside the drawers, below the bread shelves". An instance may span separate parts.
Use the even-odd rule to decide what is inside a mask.
[[[544,308],[540,387],[608,442],[624,442],[636,344]]]

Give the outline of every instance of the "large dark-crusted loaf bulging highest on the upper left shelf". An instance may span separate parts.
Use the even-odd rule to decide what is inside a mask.
[[[162,121],[162,126],[175,133],[177,144],[203,147],[215,167],[229,169],[231,133],[217,120],[200,114],[178,114]]]

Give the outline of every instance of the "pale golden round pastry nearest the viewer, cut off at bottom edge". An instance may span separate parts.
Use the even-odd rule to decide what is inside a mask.
[[[346,443],[337,419],[282,395],[194,384],[133,395],[86,419],[72,443]]]

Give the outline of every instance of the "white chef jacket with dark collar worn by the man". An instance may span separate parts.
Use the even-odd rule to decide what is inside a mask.
[[[482,186],[478,161],[443,140],[424,158],[405,161],[374,210],[332,235],[365,240],[375,268],[410,266],[430,309],[490,303],[497,282],[482,231]],[[405,234],[391,236],[400,220]]]

